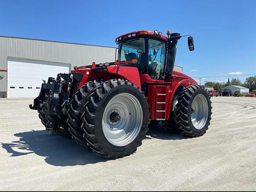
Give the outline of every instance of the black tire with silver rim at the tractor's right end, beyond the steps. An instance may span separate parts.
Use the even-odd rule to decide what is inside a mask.
[[[199,85],[186,87],[177,98],[176,116],[185,135],[199,137],[210,125],[212,106],[207,92]]]

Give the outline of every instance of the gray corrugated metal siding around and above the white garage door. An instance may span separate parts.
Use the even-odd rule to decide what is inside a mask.
[[[114,61],[116,48],[0,37],[0,69],[7,69],[8,57],[34,59],[74,66]],[[7,72],[0,71],[0,91],[7,89]],[[2,94],[0,95],[2,96]]]

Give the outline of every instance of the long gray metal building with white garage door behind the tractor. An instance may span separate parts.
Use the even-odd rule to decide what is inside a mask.
[[[0,36],[0,97],[36,97],[42,79],[74,66],[112,62],[114,47]],[[182,67],[174,66],[182,71]]]

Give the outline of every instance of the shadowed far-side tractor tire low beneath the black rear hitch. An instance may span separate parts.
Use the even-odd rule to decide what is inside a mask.
[[[38,117],[46,130],[52,130],[54,133],[62,137],[70,138],[68,126],[64,119],[60,119],[58,115],[47,115],[43,110],[38,110]]]

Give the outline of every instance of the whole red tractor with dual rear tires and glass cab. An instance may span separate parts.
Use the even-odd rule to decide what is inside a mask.
[[[118,60],[74,67],[42,83],[30,109],[51,133],[109,158],[127,156],[142,144],[148,124],[190,137],[206,133],[211,120],[208,93],[173,71],[179,33],[136,31],[116,38]],[[188,37],[194,50],[192,36]]]

